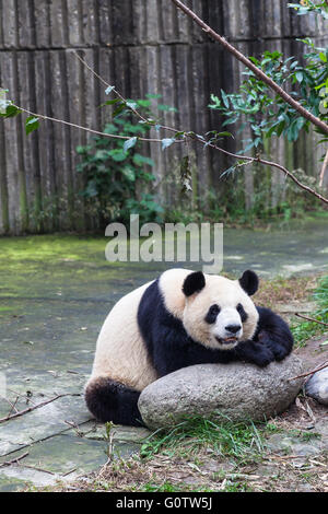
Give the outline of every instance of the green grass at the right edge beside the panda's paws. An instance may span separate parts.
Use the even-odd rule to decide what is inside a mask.
[[[313,294],[318,307],[311,317],[319,322],[328,323],[328,276],[324,277]],[[296,346],[303,347],[306,341],[315,336],[328,332],[328,327],[315,322],[302,322],[291,327]]]

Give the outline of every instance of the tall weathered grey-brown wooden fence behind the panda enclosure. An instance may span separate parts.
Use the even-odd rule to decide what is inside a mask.
[[[263,49],[300,55],[304,47],[295,38],[301,36],[326,44],[323,22],[314,15],[297,16],[286,0],[186,3],[245,55]],[[105,87],[72,50],[126,97],[161,94],[164,104],[178,109],[166,113],[165,122],[198,133],[220,128],[218,115],[208,108],[210,94],[221,87],[236,90],[243,71],[169,0],[0,0],[0,86],[32,112],[101,129],[106,112],[97,106],[106,100]],[[246,137],[247,130],[241,139]],[[75,148],[86,141],[85,132],[59,124],[45,121],[26,137],[23,117],[0,121],[0,233],[90,227],[75,171]],[[226,187],[219,182],[225,159],[201,148],[195,152],[201,190],[214,187],[220,198]],[[152,145],[149,153],[161,180],[180,149],[163,153]],[[290,168],[302,167],[314,176],[319,172],[313,135],[293,147],[279,141],[271,154]],[[283,180],[280,172],[272,172],[273,202],[276,185]],[[248,206],[253,192],[248,168]],[[169,201],[168,186],[162,195]]]

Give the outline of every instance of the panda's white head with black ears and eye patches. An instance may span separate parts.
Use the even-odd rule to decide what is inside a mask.
[[[257,289],[258,277],[249,270],[239,280],[201,271],[188,274],[183,285],[183,323],[188,335],[216,350],[231,350],[251,339],[259,316],[250,296]]]

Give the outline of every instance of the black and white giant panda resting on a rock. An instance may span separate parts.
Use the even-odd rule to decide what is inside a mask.
[[[286,323],[250,296],[258,277],[239,280],[169,269],[124,296],[98,336],[85,386],[99,421],[142,425],[140,393],[159,377],[200,363],[245,361],[266,366],[292,350]]]

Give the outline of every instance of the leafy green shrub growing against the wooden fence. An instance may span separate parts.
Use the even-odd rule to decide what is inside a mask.
[[[139,112],[148,114],[151,101],[139,100],[134,104]],[[163,209],[155,200],[155,177],[150,171],[154,162],[142,153],[142,141],[138,140],[149,130],[147,124],[132,121],[131,110],[124,108],[104,132],[128,140],[95,137],[85,147],[78,147],[78,172],[84,177],[81,195],[101,226],[112,221],[128,225],[130,214],[139,214],[141,223],[162,221]]]

